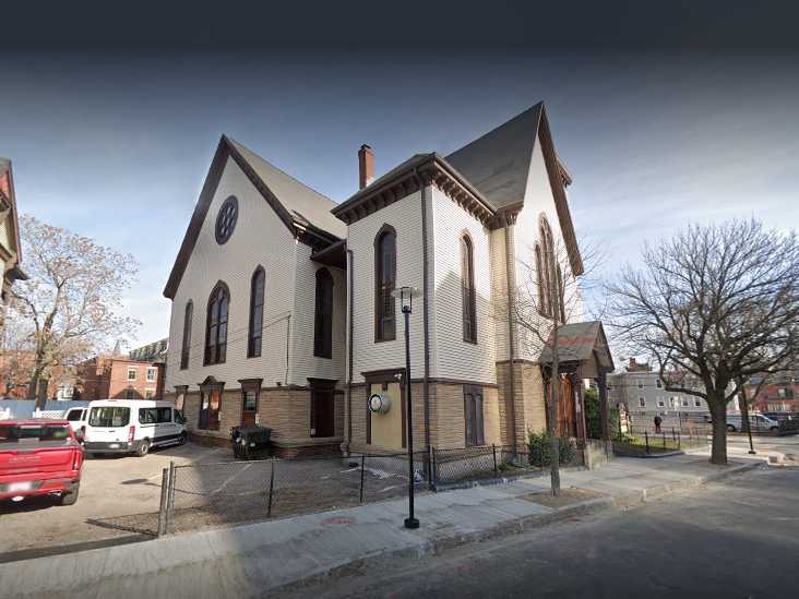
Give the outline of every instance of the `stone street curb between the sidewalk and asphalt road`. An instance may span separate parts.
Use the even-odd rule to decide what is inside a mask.
[[[417,546],[405,547],[402,549],[377,551],[371,554],[350,560],[345,564],[331,566],[323,572],[315,572],[308,576],[303,576],[302,578],[293,580],[291,583],[273,587],[269,589],[269,592],[290,592],[323,584],[325,582],[338,580],[347,576],[362,575],[366,574],[367,570],[373,572],[375,567],[380,568],[381,566],[396,565],[396,562],[401,560],[415,560],[426,555],[442,555],[448,551],[452,551],[453,549],[457,549],[466,544],[521,535],[550,524],[568,520],[577,516],[588,516],[611,507],[632,507],[634,505],[646,503],[647,501],[667,496],[679,490],[692,489],[701,487],[707,482],[723,480],[731,476],[752,470],[761,465],[761,463],[740,464],[731,466],[720,472],[713,472],[676,482],[658,484],[647,489],[642,489],[641,491],[631,491],[616,496],[582,501],[572,505],[556,508],[553,512],[548,514],[537,514],[508,520],[484,530],[444,536],[432,541],[426,540],[419,542]]]

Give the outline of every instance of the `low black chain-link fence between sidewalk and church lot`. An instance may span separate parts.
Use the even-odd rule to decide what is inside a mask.
[[[576,458],[563,466],[577,464]],[[171,465],[164,470],[158,535],[294,516],[406,496],[408,454]],[[480,478],[540,471],[501,445],[414,454],[417,493]]]

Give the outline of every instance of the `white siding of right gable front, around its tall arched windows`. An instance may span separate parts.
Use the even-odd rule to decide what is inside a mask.
[[[530,170],[527,176],[527,188],[525,190],[524,208],[516,219],[514,229],[515,243],[515,262],[516,262],[516,284],[520,292],[537,292],[535,287],[526,286],[525,281],[530,279],[530,274],[535,273],[535,244],[538,240],[538,223],[540,215],[544,214],[552,229],[552,242],[554,245],[556,257],[561,262],[561,268],[564,277],[571,276],[571,268],[565,260],[565,245],[563,242],[563,233],[560,229],[558,220],[558,211],[554,205],[554,196],[549,184],[549,176],[541,153],[540,140],[536,139],[533,149],[533,159],[530,160]],[[573,286],[572,293],[573,293]],[[567,285],[569,293],[570,286]],[[573,307],[574,298],[567,298],[568,306],[572,306],[571,310],[567,310],[567,320],[576,322],[582,318],[582,306],[575,310]],[[518,331],[518,357],[528,360],[538,360],[541,350],[541,342],[537,335],[524,330]]]

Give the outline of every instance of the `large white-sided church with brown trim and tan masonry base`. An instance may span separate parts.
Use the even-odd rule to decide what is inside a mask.
[[[358,163],[359,191],[336,203],[223,135],[164,289],[166,396],[201,442],[260,423],[278,455],[387,453],[406,446],[410,385],[416,447],[523,446],[546,427],[550,374],[509,298],[529,265],[550,272],[541,255],[560,256],[558,277],[583,273],[545,106],[377,178],[369,146]],[[409,375],[402,287],[415,289]],[[581,331],[601,346],[601,325]],[[573,436],[579,380],[609,368],[588,349],[563,375]]]

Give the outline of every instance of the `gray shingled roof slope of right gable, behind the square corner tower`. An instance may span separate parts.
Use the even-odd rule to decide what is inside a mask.
[[[524,200],[542,103],[446,156],[497,208]]]

